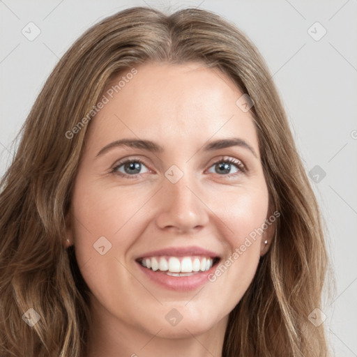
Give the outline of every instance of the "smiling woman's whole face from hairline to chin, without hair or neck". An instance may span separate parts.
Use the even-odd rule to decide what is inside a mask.
[[[255,126],[217,69],[136,69],[108,86],[90,123],[68,235],[98,321],[203,333],[227,321],[267,249],[266,231],[256,233],[268,190]]]

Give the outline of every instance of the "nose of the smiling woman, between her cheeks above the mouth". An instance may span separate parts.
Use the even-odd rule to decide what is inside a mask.
[[[156,216],[160,229],[192,233],[207,225],[209,209],[201,197],[202,190],[192,180],[188,174],[184,174],[176,183],[169,180],[164,182],[158,197],[160,202]]]

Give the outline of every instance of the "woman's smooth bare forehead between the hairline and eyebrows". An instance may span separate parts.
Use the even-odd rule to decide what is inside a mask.
[[[202,63],[144,63],[114,77],[107,104],[91,122],[89,140],[161,138],[166,144],[239,136],[258,152],[254,122],[236,101],[243,93],[217,68]]]

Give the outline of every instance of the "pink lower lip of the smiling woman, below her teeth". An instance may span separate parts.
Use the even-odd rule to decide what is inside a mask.
[[[195,290],[206,282],[208,282],[208,275],[215,271],[217,265],[214,264],[208,271],[202,271],[190,276],[171,276],[165,272],[153,271],[152,269],[145,268],[142,264],[136,261],[139,269],[153,282],[165,287],[165,289],[174,291],[191,291]]]

